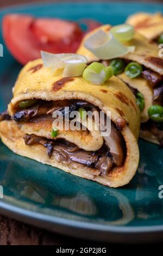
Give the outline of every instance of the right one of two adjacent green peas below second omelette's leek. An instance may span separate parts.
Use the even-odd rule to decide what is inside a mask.
[[[130,78],[140,76],[142,73],[142,65],[137,62],[130,62],[125,68],[125,74]]]

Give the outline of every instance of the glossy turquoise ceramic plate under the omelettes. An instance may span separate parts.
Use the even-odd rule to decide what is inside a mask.
[[[39,4],[3,9],[4,14],[123,23],[136,11],[161,11],[161,4]],[[0,39],[2,41],[2,38]],[[0,111],[11,99],[11,88],[21,65],[4,47],[0,58]],[[163,149],[140,140],[140,165],[123,188],[113,189],[67,174],[12,153],[0,142],[0,199],[2,214],[49,230],[102,241],[149,241],[163,237]]]

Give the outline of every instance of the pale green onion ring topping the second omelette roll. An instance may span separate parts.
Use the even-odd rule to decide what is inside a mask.
[[[133,26],[123,24],[112,27],[110,33],[119,41],[129,41],[133,38],[135,31]]]

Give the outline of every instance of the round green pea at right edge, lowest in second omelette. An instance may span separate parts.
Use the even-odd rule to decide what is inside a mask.
[[[148,116],[156,123],[163,122],[163,107],[160,105],[152,105],[148,108]]]

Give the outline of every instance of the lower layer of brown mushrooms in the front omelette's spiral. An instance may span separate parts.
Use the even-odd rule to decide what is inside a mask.
[[[73,161],[85,164],[87,167],[97,170],[98,175],[108,174],[114,166],[111,154],[105,144],[100,150],[85,151],[64,139],[49,140],[35,135],[25,135],[24,142],[26,145],[40,143],[46,148],[49,158],[52,157],[53,153],[57,154],[59,162]]]

